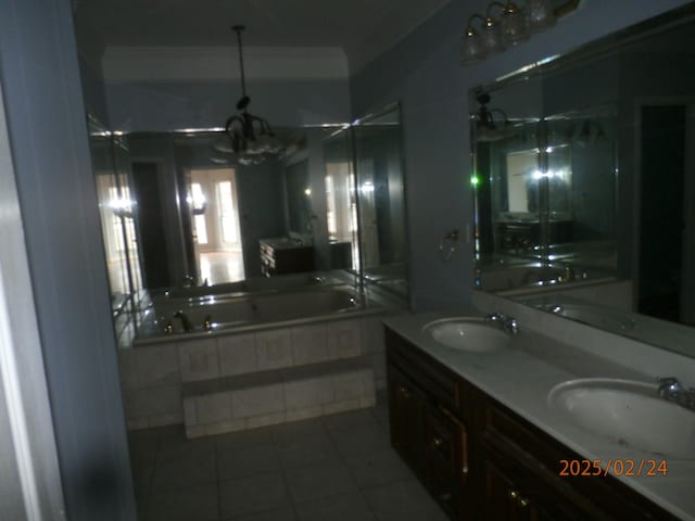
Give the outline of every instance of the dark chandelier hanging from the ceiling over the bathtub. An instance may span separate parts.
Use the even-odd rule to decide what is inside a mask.
[[[237,33],[237,41],[239,43],[241,99],[237,102],[239,114],[235,114],[227,119],[225,130],[229,137],[231,151],[238,155],[239,163],[242,165],[256,165],[263,163],[267,157],[280,153],[283,147],[273,132],[270,124],[248,111],[251,98],[247,96],[243,48],[241,43],[241,33],[244,29],[245,26],[243,25],[233,25],[231,27],[231,30]]]

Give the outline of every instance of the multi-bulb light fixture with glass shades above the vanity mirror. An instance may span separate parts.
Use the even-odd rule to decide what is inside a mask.
[[[521,5],[513,0],[491,2],[485,16],[473,13],[468,17],[462,37],[462,65],[483,60],[528,39],[531,33],[552,27],[559,16],[574,11],[579,2],[568,0],[558,7],[553,0],[526,0]],[[494,9],[500,10],[497,17],[492,16]],[[478,28],[477,22],[480,22]]]

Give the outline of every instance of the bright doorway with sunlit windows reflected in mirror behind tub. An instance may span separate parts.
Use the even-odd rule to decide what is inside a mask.
[[[213,285],[243,280],[235,169],[193,169],[190,179],[193,243],[201,282]]]

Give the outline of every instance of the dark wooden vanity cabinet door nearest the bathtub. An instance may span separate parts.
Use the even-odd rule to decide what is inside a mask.
[[[391,445],[420,479],[425,476],[425,399],[401,371],[389,366]]]

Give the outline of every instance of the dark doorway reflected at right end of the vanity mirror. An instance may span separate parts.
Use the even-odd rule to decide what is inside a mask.
[[[693,105],[643,104],[641,120],[637,310],[693,323]]]

